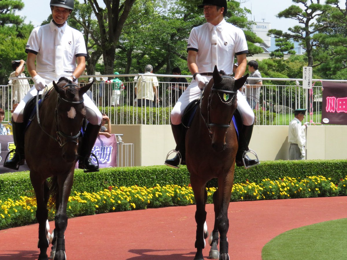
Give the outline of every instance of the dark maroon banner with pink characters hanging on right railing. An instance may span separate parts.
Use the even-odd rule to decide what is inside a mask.
[[[322,82],[322,124],[347,125],[347,83]]]

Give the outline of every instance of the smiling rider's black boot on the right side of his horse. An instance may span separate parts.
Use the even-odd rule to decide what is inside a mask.
[[[90,158],[99,131],[100,125],[88,123],[82,141],[79,142],[78,168],[84,169],[84,172],[99,172],[99,165],[93,164]]]

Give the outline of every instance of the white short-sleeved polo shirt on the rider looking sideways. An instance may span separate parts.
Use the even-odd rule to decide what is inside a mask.
[[[214,26],[205,23],[194,27],[189,35],[187,51],[197,52],[196,65],[200,73],[212,72],[212,48],[211,33]],[[224,70],[226,74],[232,75],[234,56],[248,53],[248,46],[242,29],[229,24],[223,19],[217,27],[217,49],[218,49],[218,70]]]

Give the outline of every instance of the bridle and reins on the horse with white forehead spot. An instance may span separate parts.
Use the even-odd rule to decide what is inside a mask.
[[[67,84],[64,86],[64,88],[68,87],[68,86],[76,86],[78,87],[76,84]],[[79,88],[79,87],[78,87]],[[37,91],[37,96],[39,95],[39,92]],[[74,135],[74,136],[70,136],[70,135],[67,135],[66,133],[60,131],[58,129],[58,104],[59,104],[59,101],[62,101],[62,102],[65,102],[65,103],[68,103],[68,104],[73,104],[73,105],[77,105],[77,104],[81,104],[84,102],[84,98],[82,97],[82,99],[80,101],[68,101],[64,98],[62,98],[59,93],[58,93],[58,102],[57,102],[57,106],[56,106],[56,111],[55,111],[55,117],[56,117],[56,133],[57,133],[57,137],[53,137],[51,136],[49,133],[47,133],[41,126],[40,124],[40,119],[39,119],[39,113],[37,113],[37,122],[39,123],[39,126],[40,128],[42,129],[43,132],[46,133],[46,135],[48,135],[49,137],[51,137],[54,141],[57,141],[58,144],[59,144],[59,147],[62,148],[64,145],[66,145],[68,142],[74,142],[76,145],[78,145],[78,142],[77,142],[77,138],[81,135],[81,131],[78,131],[77,135]],[[36,109],[38,110],[38,106],[36,107]],[[66,142],[62,143],[61,141],[61,138],[60,136],[68,139]],[[76,140],[75,140],[76,139]]]

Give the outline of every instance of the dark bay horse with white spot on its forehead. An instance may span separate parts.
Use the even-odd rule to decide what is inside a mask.
[[[51,241],[51,259],[66,259],[66,207],[78,158],[78,137],[86,113],[83,94],[92,84],[79,88],[64,77],[57,84],[53,81],[54,89],[40,106],[39,120],[35,114],[25,133],[25,159],[37,202],[39,260],[48,260],[47,248]],[[53,237],[50,237],[49,226],[46,227],[49,202],[56,206]]]

